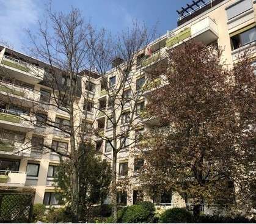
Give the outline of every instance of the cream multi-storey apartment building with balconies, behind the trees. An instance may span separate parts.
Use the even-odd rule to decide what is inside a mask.
[[[134,65],[134,72],[130,77],[130,88],[134,90],[140,88],[144,84],[147,72],[150,69],[158,63],[166,63],[167,49],[175,48],[175,46],[190,39],[203,42],[206,45],[214,43],[219,46],[223,49],[223,62],[229,68],[232,68],[238,56],[248,49],[251,50],[250,56],[255,58],[256,63],[255,10],[256,1],[254,0],[197,0],[191,2],[188,0],[185,7],[177,10],[179,16],[177,28],[168,31],[167,34],[150,43],[147,48],[150,49],[149,55],[145,56],[144,52],[138,52],[137,63]],[[0,187],[4,190],[32,190],[35,193],[34,203],[55,205],[57,201],[54,197],[53,177],[55,167],[59,164],[59,156],[51,152],[42,153],[42,148],[33,147],[33,145],[29,147],[29,150],[21,151],[20,149],[26,146],[27,139],[31,140],[31,144],[33,144],[34,139],[37,139],[37,142],[39,139],[42,143],[48,143],[55,148],[68,150],[69,140],[65,136],[60,136],[54,129],[31,126],[30,123],[26,123],[13,115],[13,112],[18,112],[22,116],[31,117],[29,106],[32,105],[30,105],[29,98],[48,101],[52,93],[51,89],[43,82],[46,65],[34,61],[29,65],[30,70],[28,71],[19,61],[22,59],[26,61],[27,56],[15,52],[15,55],[18,54],[19,56],[19,59],[16,59],[12,57],[12,52],[10,49],[1,48],[0,66],[8,71],[10,79],[1,79],[0,94],[4,99],[7,92],[11,93],[9,96],[12,96],[13,104],[15,104],[16,99],[22,98],[23,94],[27,97],[24,103],[26,107],[13,106],[10,103],[1,105],[0,177],[2,181]],[[31,71],[35,70],[40,75],[34,76]],[[81,91],[88,92],[91,102],[87,106],[87,124],[89,126],[93,125],[108,136],[112,135],[108,119],[106,119],[104,113],[93,107],[106,108],[106,112],[108,112],[111,99],[104,89],[103,79],[107,79],[109,84],[115,85],[119,82],[119,76],[114,74],[114,71],[109,71],[104,77],[97,74],[92,75],[89,71],[85,72],[81,76],[80,84]],[[89,85],[85,86],[83,84],[86,82]],[[164,83],[161,74],[155,83],[158,85]],[[82,107],[84,102],[82,95],[76,97]],[[145,104],[147,104],[146,94],[137,106],[137,110],[142,109]],[[62,124],[65,124],[68,120],[67,114],[54,107],[49,108],[47,116],[59,119],[59,123]],[[128,118],[128,114],[123,114],[120,122],[123,123]],[[81,117],[80,120],[82,119]],[[40,119],[38,122],[40,123]],[[143,131],[143,128],[147,128],[147,125],[154,125],[154,120],[148,121],[147,124],[142,123],[141,129],[131,132],[132,137],[136,138]],[[136,157],[133,153],[130,153],[134,145],[129,145],[128,142],[125,145],[128,145],[125,146],[126,150],[120,151],[117,156],[119,178],[133,175],[144,163],[139,155]],[[109,143],[99,139],[96,147],[102,151],[103,159],[111,162],[112,152]],[[118,202],[120,204],[134,204],[142,200],[143,197],[145,200],[147,196],[143,196],[141,191],[139,183],[134,182],[130,190],[119,192]],[[189,206],[189,201],[182,200],[180,195],[175,192],[164,193],[156,203],[164,206],[185,206],[186,204]]]

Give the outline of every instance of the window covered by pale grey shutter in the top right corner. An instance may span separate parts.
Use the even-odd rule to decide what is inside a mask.
[[[252,9],[252,1],[251,0],[238,1],[236,4],[233,4],[226,9],[227,19],[231,20],[235,16],[238,16],[241,13],[246,12],[249,9]]]

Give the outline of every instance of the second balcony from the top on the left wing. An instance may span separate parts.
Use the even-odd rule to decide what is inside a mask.
[[[39,92],[4,81],[0,82],[0,94],[4,98],[11,98],[14,101],[26,101],[27,107],[32,107],[34,104],[37,104],[40,99]]]

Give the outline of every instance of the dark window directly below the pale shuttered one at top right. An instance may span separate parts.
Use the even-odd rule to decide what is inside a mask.
[[[253,26],[253,27],[252,27]],[[244,27],[240,31],[230,34],[232,50],[256,41],[256,26],[254,24]]]

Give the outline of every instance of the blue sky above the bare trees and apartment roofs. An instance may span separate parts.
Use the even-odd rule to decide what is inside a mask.
[[[86,20],[97,28],[117,34],[134,19],[148,27],[158,22],[158,35],[177,26],[177,9],[190,0],[52,0],[53,9],[68,12],[71,5],[81,10]],[[36,32],[43,20],[48,0],[0,0],[0,41],[24,51],[29,42],[24,29]]]

